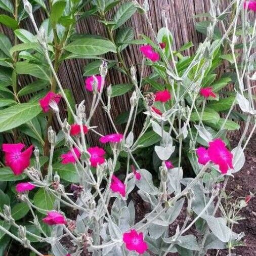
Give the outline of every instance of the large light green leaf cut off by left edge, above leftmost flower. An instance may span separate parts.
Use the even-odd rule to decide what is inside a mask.
[[[0,133],[28,122],[41,112],[38,102],[21,103],[0,110]]]

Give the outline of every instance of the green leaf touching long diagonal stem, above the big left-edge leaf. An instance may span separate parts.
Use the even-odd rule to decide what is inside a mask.
[[[18,74],[32,75],[37,78],[51,81],[51,72],[49,67],[32,64],[28,61],[19,61],[16,63],[16,72]]]

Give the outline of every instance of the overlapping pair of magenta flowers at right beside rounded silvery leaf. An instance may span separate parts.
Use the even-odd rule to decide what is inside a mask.
[[[206,164],[208,161],[219,165],[222,174],[226,174],[229,168],[233,168],[233,155],[226,148],[226,144],[221,139],[209,142],[209,148],[199,147],[196,150],[198,162]]]

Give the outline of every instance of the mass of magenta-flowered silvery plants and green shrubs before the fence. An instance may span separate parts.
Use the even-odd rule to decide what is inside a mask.
[[[121,4],[112,20],[106,19],[106,13],[119,0],[34,2],[16,0],[13,7],[9,0],[0,0],[0,8],[14,16],[1,15],[0,22],[15,34],[14,46],[0,34],[0,131],[14,140],[2,145],[6,167],[0,168],[1,249],[5,250],[10,236],[29,248],[31,255],[43,255],[38,242],[49,244],[48,253],[56,256],[149,252],[200,256],[225,248],[233,255],[243,237],[233,231],[233,225],[253,196],[230,203],[225,188],[229,177],[242,168],[244,149],[256,128],[255,55],[251,54],[256,21],[251,24],[248,18],[256,2],[233,0],[220,10],[219,1],[211,0],[209,13],[201,15],[208,20],[196,23],[206,37],[191,56],[182,53],[192,42],[172,49],[174,36],[166,10],[162,12],[165,26],[153,39],[145,35],[134,39],[132,28],[121,27],[136,11],[152,27],[148,1],[142,6],[137,1]],[[39,7],[48,19],[38,27],[33,11]],[[91,15],[106,27],[108,38],[75,33],[76,22]],[[19,28],[24,18],[31,20],[35,35]],[[127,67],[123,59],[122,51],[131,44],[140,45],[143,56],[137,67]],[[108,52],[116,54],[116,61],[101,57]],[[73,58],[97,59],[84,68],[84,88],[93,98],[90,106],[85,100],[75,105],[59,80],[59,65]],[[223,61],[232,72],[222,69],[217,78]],[[146,66],[152,73],[145,77]],[[109,68],[127,75],[130,83],[107,84]],[[22,74],[37,80],[19,90]],[[234,91],[222,92],[229,83],[234,83]],[[145,85],[150,86],[148,92],[143,92]],[[21,103],[22,96],[31,93],[36,94]],[[130,95],[131,108],[114,120],[111,99],[125,93]],[[64,119],[61,102],[67,106]],[[91,124],[100,105],[112,124],[112,134],[102,135]],[[235,105],[242,114],[233,110]],[[136,136],[136,119],[142,112],[145,121]],[[61,128],[57,134],[53,117]],[[239,129],[237,120],[245,120],[246,125],[231,150],[227,133]],[[116,123],[125,123],[123,132]],[[89,145],[88,133],[97,134],[101,146]],[[22,134],[29,143],[22,143]],[[194,178],[184,176],[189,171]],[[135,193],[150,207],[141,220],[136,218]],[[169,225],[182,211],[186,211],[184,223],[172,234]],[[221,217],[216,217],[217,212]],[[25,216],[29,222],[22,223]]]

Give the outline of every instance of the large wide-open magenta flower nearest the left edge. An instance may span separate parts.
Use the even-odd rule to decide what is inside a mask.
[[[3,144],[2,148],[5,152],[5,163],[9,166],[14,175],[22,174],[23,170],[26,169],[30,164],[30,157],[33,151],[33,146],[21,152],[25,147],[22,143],[17,144]]]

